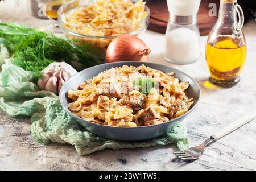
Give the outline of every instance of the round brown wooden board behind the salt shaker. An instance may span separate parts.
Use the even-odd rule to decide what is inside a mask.
[[[216,3],[218,15],[220,0],[201,0],[199,13],[197,14],[201,35],[208,35],[217,20],[217,16],[209,16],[210,3]],[[150,0],[147,1],[147,6],[150,8],[150,25],[148,29],[164,34],[169,19],[166,0]]]

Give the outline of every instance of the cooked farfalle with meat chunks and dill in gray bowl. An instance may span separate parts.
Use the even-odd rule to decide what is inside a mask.
[[[108,126],[157,125],[186,113],[193,104],[174,73],[142,65],[108,69],[69,90],[69,110],[78,117]]]

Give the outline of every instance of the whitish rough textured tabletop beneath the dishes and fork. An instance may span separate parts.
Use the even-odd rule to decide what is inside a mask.
[[[0,20],[10,19],[43,27],[49,20],[31,18],[26,14],[25,0],[0,2]],[[24,13],[14,13],[19,6]],[[9,7],[9,9],[7,9]],[[19,12],[16,10],[16,12]],[[21,11],[20,11],[21,12]],[[195,78],[202,90],[199,106],[186,119],[192,145],[200,144],[215,131],[248,111],[256,110],[256,22],[251,20],[243,29],[247,39],[247,59],[241,74],[241,82],[230,89],[207,88],[209,73],[204,59],[207,37],[201,37],[202,56],[189,65],[174,65],[163,58],[164,35],[147,31],[141,35],[152,49],[151,61],[181,69]],[[80,156],[72,146],[51,143],[38,144],[31,139],[29,119],[8,118],[0,114],[0,169],[37,170],[256,170],[256,122],[255,120],[212,143],[199,160],[179,162],[172,154],[174,145],[134,150],[105,150],[88,156]]]

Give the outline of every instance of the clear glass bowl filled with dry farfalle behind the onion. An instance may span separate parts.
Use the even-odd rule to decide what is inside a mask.
[[[150,10],[139,0],[95,0],[65,3],[58,11],[59,26],[68,39],[80,39],[106,51],[119,35],[139,35],[149,24]],[[74,5],[77,5],[74,7]]]

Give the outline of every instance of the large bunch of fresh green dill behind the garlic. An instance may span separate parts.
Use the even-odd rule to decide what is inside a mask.
[[[27,26],[0,23],[0,37],[9,49],[13,63],[36,77],[50,63],[65,61],[77,71],[104,63],[101,53],[89,43],[67,40]]]

